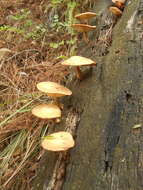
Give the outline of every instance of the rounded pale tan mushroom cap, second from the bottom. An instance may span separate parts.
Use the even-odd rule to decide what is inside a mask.
[[[40,104],[32,109],[32,114],[42,119],[61,117],[61,110],[54,104]]]

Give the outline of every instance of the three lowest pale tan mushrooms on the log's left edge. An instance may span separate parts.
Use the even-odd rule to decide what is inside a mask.
[[[53,99],[52,103],[40,104],[32,109],[32,114],[41,119],[52,119],[59,122],[61,117],[61,108],[58,101],[59,97],[70,96],[72,92],[55,82],[40,82],[37,84],[38,90],[44,92]],[[42,140],[42,147],[51,151],[65,151],[74,146],[72,135],[65,131],[50,134]]]

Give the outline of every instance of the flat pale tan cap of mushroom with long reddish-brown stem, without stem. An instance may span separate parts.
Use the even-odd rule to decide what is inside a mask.
[[[84,66],[84,65],[94,65],[96,64],[91,59],[81,56],[72,56],[69,59],[65,60],[61,63],[62,65],[69,65],[69,66]]]

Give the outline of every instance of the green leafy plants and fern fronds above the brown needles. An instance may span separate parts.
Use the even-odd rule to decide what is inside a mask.
[[[76,43],[75,39],[75,33],[73,32],[72,28],[70,27],[71,24],[74,22],[73,20],[73,12],[74,9],[77,6],[76,2],[72,1],[62,1],[62,0],[52,0],[51,7],[53,7],[55,10],[58,9],[59,6],[63,5],[63,3],[66,3],[66,12],[65,14],[65,20],[60,21],[60,16],[58,14],[54,14],[52,18],[52,23],[50,24],[50,28],[55,32],[66,32],[68,31],[68,34],[71,35],[71,39],[68,41],[60,41],[56,43],[50,43],[51,48],[58,48],[61,45],[64,44],[74,44]],[[15,33],[21,35],[24,40],[33,39],[33,40],[39,40],[42,39],[42,37],[46,34],[48,34],[48,28],[46,24],[35,22],[32,18],[32,13],[29,9],[21,9],[17,14],[9,15],[8,19],[13,23],[14,25],[10,24],[4,24],[0,26],[0,32],[9,32],[9,33]]]

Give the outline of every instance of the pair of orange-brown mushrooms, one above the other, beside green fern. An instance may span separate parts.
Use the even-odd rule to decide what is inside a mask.
[[[95,30],[96,26],[91,26],[88,24],[89,19],[97,16],[96,13],[93,12],[85,12],[75,15],[75,18],[80,20],[81,24],[72,24],[71,26],[77,30],[78,32],[83,33],[83,38],[85,42],[88,42],[87,32]]]

